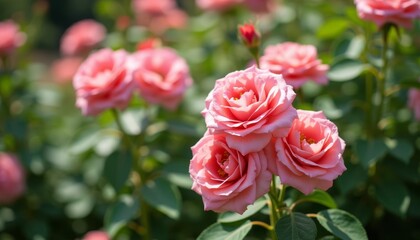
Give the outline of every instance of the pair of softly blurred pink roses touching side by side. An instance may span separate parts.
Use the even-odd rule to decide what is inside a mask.
[[[133,54],[101,49],[81,64],[73,79],[76,106],[84,115],[124,109],[134,90],[147,102],[173,110],[191,84],[187,63],[171,48]]]

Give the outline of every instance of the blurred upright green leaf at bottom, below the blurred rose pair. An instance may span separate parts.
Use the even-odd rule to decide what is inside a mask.
[[[114,239],[118,231],[136,216],[140,207],[139,202],[138,199],[132,196],[123,195],[107,209],[105,214],[105,228],[111,238]]]

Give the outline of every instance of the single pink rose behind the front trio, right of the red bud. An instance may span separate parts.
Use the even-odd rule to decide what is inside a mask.
[[[268,46],[260,59],[260,67],[282,74],[295,89],[313,80],[327,84],[328,66],[321,63],[314,46],[285,42]]]

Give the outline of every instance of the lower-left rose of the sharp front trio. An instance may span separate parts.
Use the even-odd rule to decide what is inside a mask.
[[[242,155],[227,145],[225,135],[208,132],[191,149],[192,189],[202,195],[205,210],[242,214],[268,192],[267,161],[274,155],[265,151]]]

